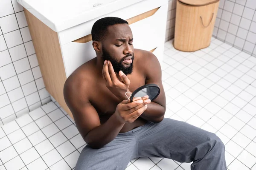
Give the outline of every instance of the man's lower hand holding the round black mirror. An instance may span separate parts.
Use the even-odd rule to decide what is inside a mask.
[[[143,100],[145,99],[145,100]],[[117,116],[122,123],[132,123],[147,109],[151,101],[148,96],[135,97],[133,102],[127,103],[127,100],[123,100],[116,106],[114,115]]]

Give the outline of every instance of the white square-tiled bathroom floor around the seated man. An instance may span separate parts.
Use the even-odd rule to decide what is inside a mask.
[[[256,57],[212,38],[193,53],[165,43],[165,117],[216,133],[229,170],[256,170]],[[71,170],[85,142],[57,102],[0,127],[0,170]],[[190,170],[162,158],[132,160],[126,170]]]

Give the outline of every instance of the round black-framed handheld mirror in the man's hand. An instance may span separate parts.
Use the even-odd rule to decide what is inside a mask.
[[[160,94],[160,88],[156,84],[147,84],[143,85],[139,88],[137,88],[130,97],[130,101],[132,102],[132,99],[134,97],[144,97],[148,95],[148,99],[153,101],[157,98],[157,96]]]

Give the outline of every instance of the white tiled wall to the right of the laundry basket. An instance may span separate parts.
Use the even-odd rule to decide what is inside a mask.
[[[256,0],[221,0],[213,37],[256,56]]]

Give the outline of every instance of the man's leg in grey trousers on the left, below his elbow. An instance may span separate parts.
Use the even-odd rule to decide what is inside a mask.
[[[100,149],[85,146],[75,170],[125,170],[136,153],[134,133],[123,133]]]

